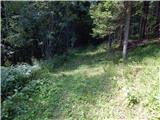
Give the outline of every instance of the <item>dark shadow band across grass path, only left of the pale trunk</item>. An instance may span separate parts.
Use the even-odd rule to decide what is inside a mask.
[[[114,55],[113,55],[114,54]],[[107,62],[113,62],[117,64],[120,56],[116,53],[108,54],[106,51],[98,52],[95,54],[81,54],[81,53],[73,53],[69,55],[68,60],[65,62],[57,61],[57,66],[53,66],[51,68],[51,72],[68,72],[72,70],[77,70],[80,67],[95,67],[98,65],[106,64]],[[62,60],[63,61],[63,60]]]

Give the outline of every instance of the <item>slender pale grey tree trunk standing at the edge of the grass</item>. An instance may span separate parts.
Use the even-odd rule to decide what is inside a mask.
[[[127,46],[128,46],[128,34],[129,34],[129,25],[130,25],[130,15],[131,15],[131,1],[124,2],[126,8],[126,20],[125,20],[125,29],[124,29],[124,41],[123,41],[123,60],[127,58]]]

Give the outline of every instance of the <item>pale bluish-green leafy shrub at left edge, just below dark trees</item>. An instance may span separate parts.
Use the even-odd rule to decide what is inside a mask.
[[[37,69],[38,66],[29,64],[1,67],[2,100],[24,87]]]

